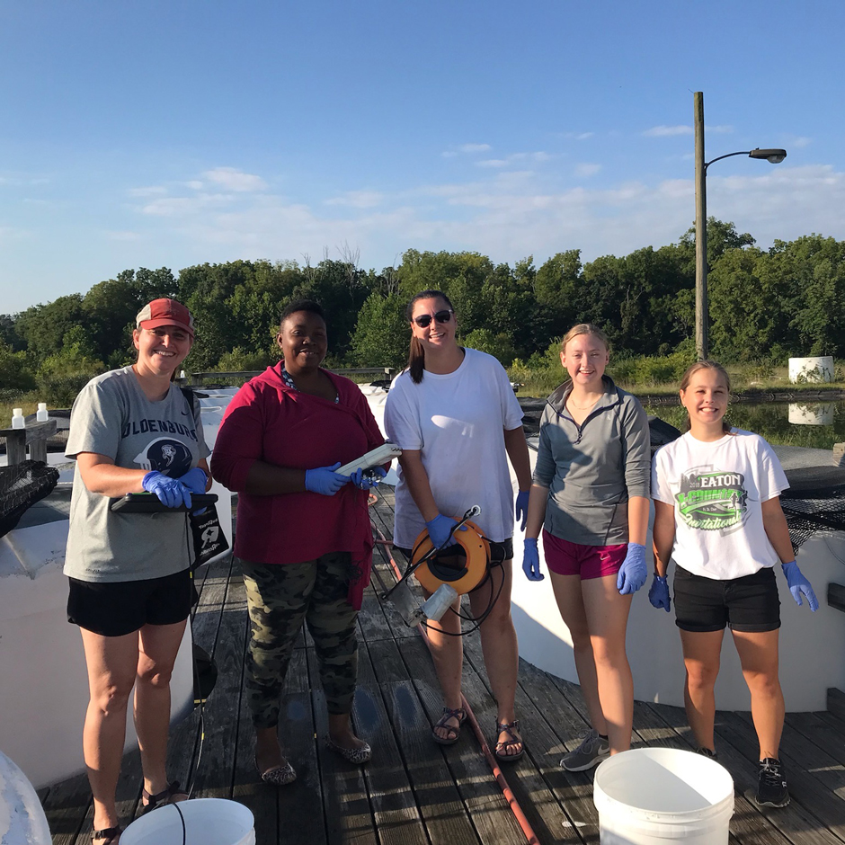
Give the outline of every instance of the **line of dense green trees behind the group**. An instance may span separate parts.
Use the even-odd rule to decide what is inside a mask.
[[[707,220],[710,345],[727,361],[785,363],[792,355],[845,357],[845,242],[809,235],[768,250],[733,223]],[[496,264],[474,252],[409,249],[397,267],[363,270],[348,251],[312,266],[235,261],[125,270],[84,294],[0,315],[0,390],[75,395],[85,378],[133,360],[139,308],[178,298],[197,325],[191,370],[261,369],[279,354],[280,310],[293,298],[325,307],[330,366],[394,366],[407,357],[405,304],[441,289],[461,341],[505,366],[544,366],[575,323],[600,325],[617,357],[686,354],[693,347],[695,237],[582,262],[566,250],[536,267],[531,256]]]

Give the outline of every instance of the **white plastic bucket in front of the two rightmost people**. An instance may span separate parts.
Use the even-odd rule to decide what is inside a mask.
[[[600,764],[592,800],[601,845],[727,845],[734,779],[701,754],[636,748]]]

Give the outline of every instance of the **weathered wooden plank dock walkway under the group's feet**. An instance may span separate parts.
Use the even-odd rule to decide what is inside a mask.
[[[387,536],[393,490],[378,491],[374,523]],[[390,583],[386,550],[376,566]],[[404,561],[400,561],[404,565]],[[376,579],[374,578],[374,583]],[[351,766],[325,752],[323,694],[310,639],[303,635],[288,673],[281,725],[298,779],[289,787],[262,784],[253,762],[252,727],[243,689],[248,634],[245,592],[231,557],[198,577],[200,603],[192,626],[197,644],[214,658],[218,681],[204,708],[195,797],[234,798],[255,816],[257,845],[520,845],[525,836],[468,727],[457,745],[431,742],[440,715],[437,680],[423,638],[369,587],[360,613],[360,678],[354,720],[373,746],[369,766]],[[492,736],[495,704],[477,635],[467,636],[464,690],[482,728]],[[823,667],[820,667],[823,671]],[[60,703],[57,702],[57,706]],[[577,686],[520,661],[517,710],[527,751],[504,774],[542,845],[597,843],[592,772],[558,768],[578,744],[586,711]],[[636,703],[634,745],[691,747],[683,710]],[[836,845],[845,842],[845,723],[829,713],[787,716],[781,756],[792,804],[761,812],[745,796],[755,784],[756,743],[748,713],[719,712],[716,744],[736,785],[734,845]],[[81,733],[81,725],[80,725]],[[173,731],[169,772],[184,784],[200,746],[195,710]],[[81,749],[80,749],[81,754]],[[128,822],[139,808],[138,753],[129,754],[118,788]],[[88,845],[91,801],[84,776],[40,792],[53,845]],[[169,845],[162,842],[161,845]]]

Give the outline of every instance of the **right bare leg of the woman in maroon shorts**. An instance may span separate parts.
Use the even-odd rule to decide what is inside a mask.
[[[616,583],[616,575],[581,582],[596,688],[606,725],[606,731],[599,733],[608,734],[611,754],[631,747],[634,724],[634,679],[625,653],[625,632],[633,596],[619,595]]]

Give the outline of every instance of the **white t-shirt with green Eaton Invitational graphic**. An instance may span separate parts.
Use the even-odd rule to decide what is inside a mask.
[[[675,509],[672,559],[720,581],[779,562],[763,529],[761,503],[789,486],[759,434],[732,431],[712,442],[688,431],[659,449],[652,464],[652,497]]]

